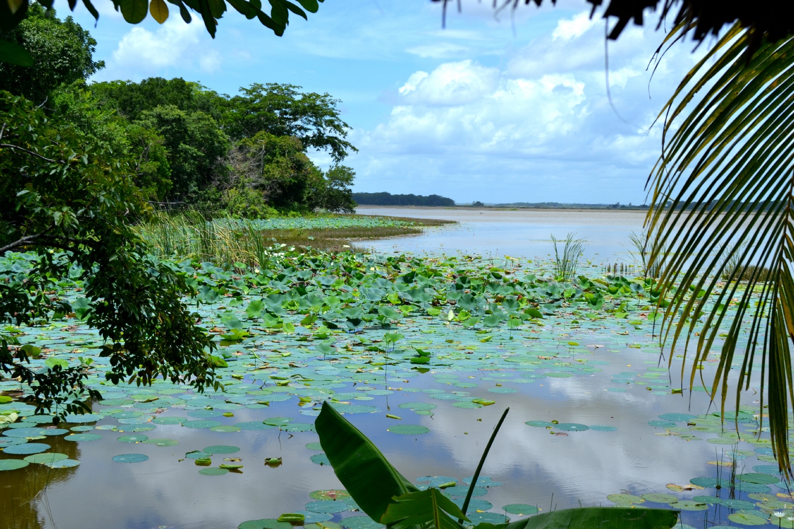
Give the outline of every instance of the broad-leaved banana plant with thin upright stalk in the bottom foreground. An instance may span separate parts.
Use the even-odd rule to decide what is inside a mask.
[[[509,410],[509,408],[508,408]],[[370,518],[387,529],[462,529],[472,491],[488,450],[507,410],[496,425],[461,508],[443,496],[440,488],[419,490],[395,469],[380,450],[338,411],[324,402],[314,422],[320,444],[339,481]],[[478,523],[475,529],[533,529],[535,527],[609,527],[611,529],[668,529],[678,520],[671,509],[621,507],[574,508],[545,512],[513,523]]]

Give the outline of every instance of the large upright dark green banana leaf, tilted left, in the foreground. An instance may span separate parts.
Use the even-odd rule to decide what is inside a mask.
[[[380,520],[392,496],[418,492],[372,441],[339,415],[327,400],[322,403],[314,427],[334,473],[370,518]]]

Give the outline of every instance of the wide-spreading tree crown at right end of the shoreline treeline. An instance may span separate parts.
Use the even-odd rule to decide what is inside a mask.
[[[328,149],[335,161],[348,151],[357,152],[345,140],[349,125],[339,117],[338,99],[328,94],[301,93],[292,84],[254,83],[240,88],[242,95],[229,98],[222,124],[229,137],[241,139],[268,132],[297,137],[304,149]]]

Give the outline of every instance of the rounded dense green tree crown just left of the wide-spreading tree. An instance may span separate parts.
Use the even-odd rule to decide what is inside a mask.
[[[170,197],[194,200],[199,193],[222,178],[222,163],[229,140],[210,114],[197,110],[187,113],[176,106],[157,106],[144,110],[135,122],[156,131],[163,138],[171,169]]]

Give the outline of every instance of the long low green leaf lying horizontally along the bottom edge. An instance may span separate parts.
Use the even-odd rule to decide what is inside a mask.
[[[480,523],[475,529],[669,529],[678,521],[671,509],[585,507],[544,512],[512,523]]]

